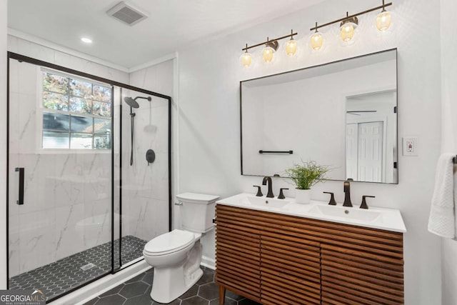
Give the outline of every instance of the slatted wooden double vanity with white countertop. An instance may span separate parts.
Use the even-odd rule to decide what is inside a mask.
[[[216,204],[216,281],[261,304],[403,304],[394,209],[239,194]]]

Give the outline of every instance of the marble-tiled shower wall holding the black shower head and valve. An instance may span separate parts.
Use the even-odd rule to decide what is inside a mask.
[[[123,92],[124,96],[146,96]],[[123,107],[122,127],[122,219],[123,236],[133,235],[149,241],[168,231],[168,101],[152,96],[152,101],[138,99],[135,109],[134,164],[130,166],[129,107]],[[146,161],[146,151],[153,149],[154,163]]]

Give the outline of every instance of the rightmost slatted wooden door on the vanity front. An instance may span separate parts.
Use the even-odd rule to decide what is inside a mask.
[[[328,304],[404,303],[403,260],[385,256],[367,257],[322,244],[322,300]],[[333,303],[332,303],[333,302]]]

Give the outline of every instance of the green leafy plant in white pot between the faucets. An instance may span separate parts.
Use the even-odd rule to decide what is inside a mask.
[[[293,164],[291,169],[286,169],[286,176],[296,184],[295,199],[298,204],[309,204],[311,186],[326,179],[328,171],[328,166],[318,165],[316,161],[301,161],[301,164]]]

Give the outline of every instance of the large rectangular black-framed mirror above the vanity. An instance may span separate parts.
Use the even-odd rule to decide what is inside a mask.
[[[316,161],[331,180],[398,183],[396,49],[241,81],[240,90],[241,174],[284,176]]]

